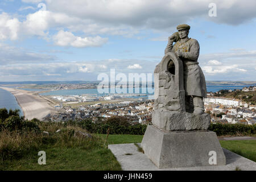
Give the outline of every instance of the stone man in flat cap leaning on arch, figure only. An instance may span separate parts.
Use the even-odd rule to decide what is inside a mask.
[[[174,33],[169,37],[164,53],[174,52],[183,61],[186,111],[200,115],[204,113],[203,97],[207,97],[207,88],[204,73],[197,62],[199,43],[196,39],[188,38],[189,29],[187,24],[177,26],[179,36]]]

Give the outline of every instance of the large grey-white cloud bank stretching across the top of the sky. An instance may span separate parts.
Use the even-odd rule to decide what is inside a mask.
[[[144,28],[168,31],[179,23],[186,23],[195,18],[206,18],[210,21],[226,24],[241,24],[256,17],[256,1],[221,1],[221,0],[22,0],[26,3],[45,2],[48,11],[36,11],[28,14],[24,21],[15,18],[9,29],[0,27],[0,39],[16,40],[19,24],[22,24],[22,34],[48,36],[51,28],[61,30],[67,28],[69,32],[82,31],[88,35],[122,35],[126,37],[138,34]],[[209,18],[208,5],[216,3],[217,18]],[[34,9],[32,6],[22,9]],[[239,13],[237,13],[239,12]],[[7,28],[8,29],[8,28]],[[7,35],[6,35],[7,34]],[[3,36],[4,35],[4,36]],[[154,38],[152,40],[164,40]],[[79,40],[80,44],[83,40]],[[83,43],[82,43],[83,44]]]

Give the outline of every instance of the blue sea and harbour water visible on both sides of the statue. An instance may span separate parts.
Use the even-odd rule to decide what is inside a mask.
[[[217,92],[222,89],[228,89],[228,90],[235,90],[235,89],[242,89],[245,86],[251,86],[251,85],[207,85],[207,92]],[[41,91],[41,89],[26,89],[29,91]],[[146,93],[142,92],[143,88],[140,88],[137,93],[142,94],[141,96],[127,96],[128,98],[153,98],[152,96],[154,93],[148,92],[150,90],[144,88],[146,90]],[[144,91],[143,90],[143,91]],[[133,89],[133,93],[136,90]],[[113,90],[112,90],[113,92]],[[111,93],[111,90],[109,90],[109,93]],[[107,96],[109,93],[98,93],[97,89],[71,89],[71,90],[53,90],[46,93],[41,93],[43,96],[81,96],[81,95],[94,95],[94,96]],[[129,89],[127,89],[127,92],[129,93]],[[147,96],[144,96],[146,94]],[[18,105],[18,102],[16,101],[13,94],[10,92],[0,89],[0,108],[6,107],[6,109],[19,109],[20,115],[23,115],[22,109]]]

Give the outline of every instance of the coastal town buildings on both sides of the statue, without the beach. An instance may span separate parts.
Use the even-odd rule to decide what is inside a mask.
[[[245,87],[237,90],[225,90],[225,92],[253,93],[256,86]],[[141,98],[144,96],[144,98]],[[129,98],[130,97],[130,98]],[[134,98],[136,97],[136,98]],[[250,96],[243,96],[250,97]],[[57,112],[48,114],[45,121],[68,121],[91,118],[109,118],[124,116],[133,122],[148,125],[151,122],[154,110],[154,98],[143,94],[113,94],[108,96],[48,96],[54,101]],[[89,104],[92,103],[92,104]],[[237,98],[221,97],[220,92],[209,92],[204,99],[205,113],[211,115],[212,123],[243,123],[254,125],[256,123],[256,105],[254,102],[245,102]]]

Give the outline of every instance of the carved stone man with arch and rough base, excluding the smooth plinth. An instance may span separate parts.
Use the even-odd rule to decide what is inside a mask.
[[[159,129],[207,130],[210,115],[204,113],[205,78],[198,65],[199,43],[188,38],[188,25],[177,26],[165,55],[154,71],[155,108],[152,123]],[[177,41],[172,46],[173,41]]]

